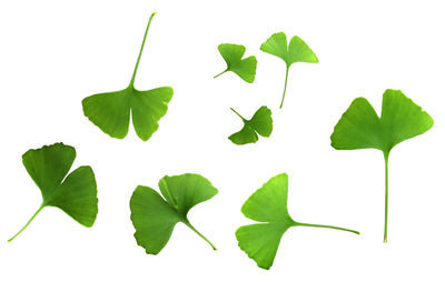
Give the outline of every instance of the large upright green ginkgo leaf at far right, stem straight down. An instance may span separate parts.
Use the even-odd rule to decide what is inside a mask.
[[[337,150],[374,148],[384,153],[385,231],[387,242],[388,216],[388,158],[398,143],[425,133],[433,127],[433,119],[400,90],[388,89],[383,94],[382,118],[365,98],[353,101],[330,135],[332,147]]]

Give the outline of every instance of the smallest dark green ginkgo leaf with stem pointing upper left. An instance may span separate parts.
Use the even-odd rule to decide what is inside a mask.
[[[231,108],[230,108],[231,109]],[[250,120],[243,118],[237,111],[231,109],[244,122],[240,131],[229,137],[235,144],[255,143],[258,141],[258,134],[261,137],[270,137],[273,130],[271,111],[263,105],[259,108]]]

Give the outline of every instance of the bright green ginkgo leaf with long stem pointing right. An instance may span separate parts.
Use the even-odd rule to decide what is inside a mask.
[[[259,268],[268,270],[271,266],[281,236],[291,226],[328,228],[359,234],[349,229],[294,221],[287,211],[287,174],[278,174],[253,193],[241,208],[246,218],[263,222],[240,226],[236,231],[239,248]]]

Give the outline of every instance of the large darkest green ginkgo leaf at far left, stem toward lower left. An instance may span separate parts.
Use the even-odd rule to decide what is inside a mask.
[[[39,187],[42,203],[28,223],[10,240],[19,235],[44,207],[56,207],[85,226],[92,226],[98,213],[95,173],[90,167],[80,167],[68,174],[76,159],[70,145],[56,143],[22,155],[23,165]],[[67,177],[68,174],[68,177]]]

